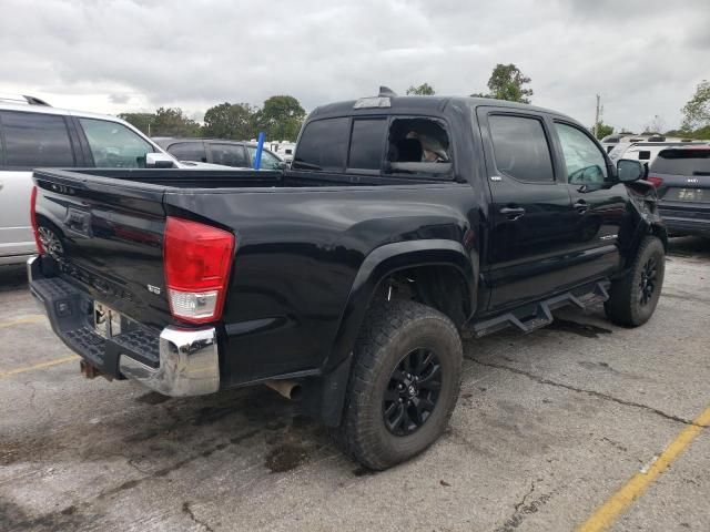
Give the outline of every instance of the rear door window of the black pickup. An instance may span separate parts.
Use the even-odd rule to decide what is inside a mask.
[[[552,157],[542,122],[534,117],[488,116],[496,168],[518,181],[555,181]]]

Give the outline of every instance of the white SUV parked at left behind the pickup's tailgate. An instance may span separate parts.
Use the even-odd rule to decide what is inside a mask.
[[[37,253],[30,223],[32,168],[187,167],[115,116],[54,109],[0,93],[0,265]]]

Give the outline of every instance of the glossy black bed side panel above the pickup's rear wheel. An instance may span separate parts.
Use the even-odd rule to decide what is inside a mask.
[[[478,253],[468,184],[168,193],[168,214],[233,227],[237,252],[224,308],[225,375],[239,385],[318,374],[365,257],[396,242],[448,241]],[[471,229],[471,231],[469,231]],[[468,233],[467,233],[468,232]]]

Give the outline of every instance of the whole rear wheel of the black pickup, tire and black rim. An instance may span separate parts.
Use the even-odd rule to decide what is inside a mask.
[[[373,470],[428,448],[444,432],[460,386],[456,327],[415,301],[371,309],[357,340],[337,441]]]

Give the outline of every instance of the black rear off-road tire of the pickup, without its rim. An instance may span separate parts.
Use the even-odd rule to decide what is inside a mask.
[[[430,349],[440,365],[440,389],[428,419],[407,436],[390,432],[384,420],[384,393],[393,370],[416,349]],[[377,303],[368,310],[354,349],[343,421],[335,441],[372,470],[408,460],[444,432],[460,387],[463,347],[449,318],[409,300]]]

